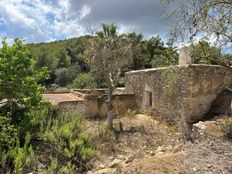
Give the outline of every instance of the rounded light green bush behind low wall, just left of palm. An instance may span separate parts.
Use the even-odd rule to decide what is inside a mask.
[[[81,73],[73,81],[75,88],[95,88],[96,82],[93,73]]]

